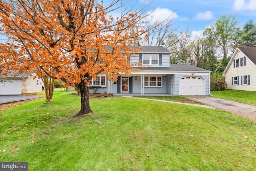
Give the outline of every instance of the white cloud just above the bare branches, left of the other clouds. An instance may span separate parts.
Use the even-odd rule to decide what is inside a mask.
[[[168,8],[156,8],[154,11],[149,11],[147,14],[150,15],[148,17],[148,20],[150,20],[150,23],[154,22],[163,22],[167,18],[170,20],[173,20],[175,18],[178,18],[178,15],[176,12],[173,12],[172,10],[169,10]]]

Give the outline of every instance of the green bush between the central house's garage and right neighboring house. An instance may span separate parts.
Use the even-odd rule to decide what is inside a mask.
[[[225,90],[227,87],[225,78],[221,72],[212,72],[211,74],[211,91]]]

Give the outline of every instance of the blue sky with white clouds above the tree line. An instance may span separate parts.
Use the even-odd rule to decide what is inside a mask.
[[[241,28],[250,19],[256,23],[256,0],[154,0],[150,10],[161,18],[173,14],[174,26],[180,30],[188,26],[193,34],[202,33],[222,15],[236,14]]]

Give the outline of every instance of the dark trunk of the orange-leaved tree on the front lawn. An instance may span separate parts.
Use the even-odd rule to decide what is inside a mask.
[[[81,94],[81,110],[74,117],[81,117],[84,114],[92,113],[89,102],[89,87],[85,82],[79,84]]]

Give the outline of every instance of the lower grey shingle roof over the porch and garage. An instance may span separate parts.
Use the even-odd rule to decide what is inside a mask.
[[[192,66],[189,64],[170,64],[170,67],[134,67],[138,68],[142,71],[189,71],[189,72],[210,72],[209,70],[205,70],[203,68],[199,68],[196,66]]]

